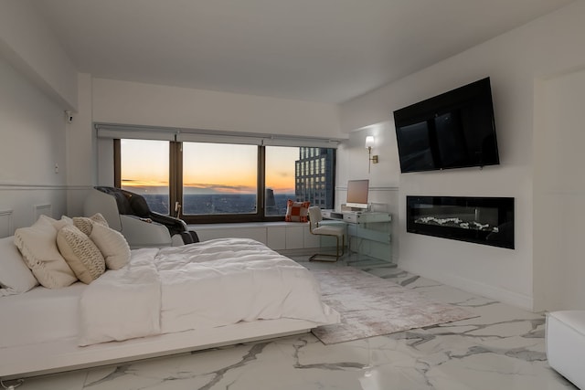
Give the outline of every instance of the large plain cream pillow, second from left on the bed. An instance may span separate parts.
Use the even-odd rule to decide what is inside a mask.
[[[48,216],[39,216],[31,227],[15,232],[15,244],[38,282],[48,289],[60,289],[77,281],[65,258],[57,248],[58,223]]]

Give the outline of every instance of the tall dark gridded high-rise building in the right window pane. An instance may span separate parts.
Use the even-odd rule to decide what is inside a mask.
[[[294,193],[297,201],[334,208],[335,149],[300,147],[295,162]]]

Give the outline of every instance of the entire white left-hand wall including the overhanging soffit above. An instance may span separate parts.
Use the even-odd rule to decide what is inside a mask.
[[[0,2],[0,86],[0,210],[12,210],[11,234],[39,214],[66,214],[64,111],[78,103],[76,69],[31,0]]]

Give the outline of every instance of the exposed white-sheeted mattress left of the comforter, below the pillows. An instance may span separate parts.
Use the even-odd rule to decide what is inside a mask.
[[[78,302],[86,288],[81,282],[58,290],[38,286],[25,294],[2,297],[0,347],[76,337]]]

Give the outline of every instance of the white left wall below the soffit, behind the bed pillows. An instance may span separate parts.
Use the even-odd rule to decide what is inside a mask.
[[[35,206],[66,213],[65,122],[61,106],[2,57],[0,85],[0,210],[12,210],[14,233],[35,222]]]

